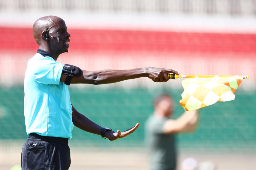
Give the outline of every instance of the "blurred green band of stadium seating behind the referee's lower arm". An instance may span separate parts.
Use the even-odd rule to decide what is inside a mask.
[[[70,88],[71,103],[77,111],[101,126],[124,131],[137,122],[140,127],[129,137],[110,142],[98,135],[76,127],[69,141],[71,146],[80,147],[143,147],[144,122],[153,113],[152,99],[161,92],[172,95],[177,118],[184,112],[180,106],[181,90],[162,89],[101,89]],[[256,92],[235,92],[236,99],[200,109],[200,121],[195,133],[177,136],[180,148],[203,150],[255,152],[256,144]],[[23,87],[0,88],[0,139],[24,139],[25,130]]]

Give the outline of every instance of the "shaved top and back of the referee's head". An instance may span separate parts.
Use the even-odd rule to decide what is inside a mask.
[[[37,19],[33,25],[33,36],[36,43],[40,46],[41,42],[44,41],[41,37],[42,32],[48,28],[49,33],[52,33],[54,31],[53,28],[56,27],[60,22],[64,22],[64,20],[52,15]]]

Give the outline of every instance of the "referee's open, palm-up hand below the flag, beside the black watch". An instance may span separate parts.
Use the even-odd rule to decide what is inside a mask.
[[[119,130],[115,131],[106,131],[105,132],[105,137],[107,137],[110,141],[116,140],[118,138],[122,138],[122,137],[126,137],[127,135],[130,135],[132,132],[134,132],[138,127],[139,127],[140,123],[137,123],[135,126],[133,126],[132,128],[124,131],[124,132],[120,132]]]

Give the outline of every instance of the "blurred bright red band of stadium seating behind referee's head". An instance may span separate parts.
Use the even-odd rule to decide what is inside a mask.
[[[9,37],[1,50],[35,50],[32,28],[0,27]],[[256,34],[68,29],[70,50],[92,52],[256,53]],[[20,41],[17,42],[16,36]],[[250,56],[249,56],[250,57]]]

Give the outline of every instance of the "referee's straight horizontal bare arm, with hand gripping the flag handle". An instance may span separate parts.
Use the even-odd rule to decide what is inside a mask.
[[[86,71],[82,70],[83,74],[79,77],[73,77],[71,84],[82,83],[82,84],[108,84],[124,81],[128,79],[148,77],[154,82],[166,82],[169,80],[168,73],[179,74],[179,72],[172,69],[162,68],[137,68],[131,70],[97,70],[97,71]],[[64,82],[66,76],[62,73],[60,82]]]

